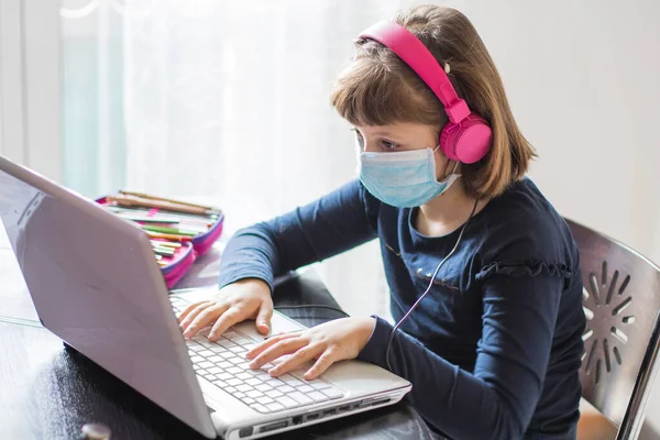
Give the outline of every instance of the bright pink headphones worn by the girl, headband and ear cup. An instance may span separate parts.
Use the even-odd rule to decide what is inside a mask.
[[[367,28],[360,37],[375,40],[389,47],[440,99],[449,118],[440,133],[440,148],[447,157],[473,164],[486,155],[493,138],[491,128],[459,98],[447,74],[422,42],[406,28],[391,21]]]

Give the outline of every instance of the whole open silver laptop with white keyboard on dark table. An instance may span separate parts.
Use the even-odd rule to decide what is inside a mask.
[[[360,361],[314,381],[270,377],[244,353],[264,340],[245,321],[218,342],[186,340],[148,238],[134,223],[0,156],[2,221],[42,324],[207,438],[256,439],[399,402],[409,382]],[[208,294],[208,292],[207,292]],[[271,333],[304,326],[275,311]]]

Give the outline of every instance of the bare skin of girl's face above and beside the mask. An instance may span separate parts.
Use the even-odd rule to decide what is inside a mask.
[[[361,152],[394,153],[411,150],[436,150],[439,130],[432,125],[414,122],[397,122],[389,125],[355,127],[355,136]],[[451,172],[449,160],[440,148],[433,153],[436,177],[442,180]]]

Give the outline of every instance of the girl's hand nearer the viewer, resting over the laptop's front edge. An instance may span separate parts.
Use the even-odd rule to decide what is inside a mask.
[[[369,342],[375,326],[374,318],[336,319],[302,332],[275,334],[245,353],[245,358],[254,358],[250,363],[251,369],[261,369],[268,362],[289,355],[268,370],[274,377],[317,359],[304,375],[311,381],[334,362],[356,358]]]

